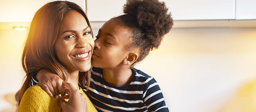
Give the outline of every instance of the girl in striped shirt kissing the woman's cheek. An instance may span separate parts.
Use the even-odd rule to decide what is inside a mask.
[[[99,29],[88,91],[98,111],[169,111],[156,80],[133,68],[159,47],[163,36],[172,28],[171,13],[167,11],[165,4],[158,0],[127,0],[125,14],[112,18]],[[54,94],[59,88],[52,85],[61,80],[44,78],[44,75],[56,75],[41,70],[36,76],[44,90]]]

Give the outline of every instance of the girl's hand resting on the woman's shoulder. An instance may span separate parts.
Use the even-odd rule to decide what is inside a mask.
[[[36,79],[39,82],[39,85],[44,89],[45,92],[50,97],[53,97],[53,95],[59,95],[65,96],[65,91],[62,86],[62,79],[56,75],[53,74],[51,71],[47,69],[41,69],[36,74]]]

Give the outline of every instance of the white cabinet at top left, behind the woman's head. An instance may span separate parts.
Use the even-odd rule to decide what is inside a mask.
[[[1,0],[0,22],[30,22],[36,11],[55,0]],[[85,9],[85,0],[67,0]]]

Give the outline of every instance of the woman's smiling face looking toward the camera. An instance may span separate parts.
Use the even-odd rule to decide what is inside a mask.
[[[91,29],[82,14],[69,12],[62,20],[55,43],[58,59],[68,72],[85,72],[91,68],[94,41]]]

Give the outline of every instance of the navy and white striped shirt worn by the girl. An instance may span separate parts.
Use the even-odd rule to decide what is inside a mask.
[[[105,81],[102,68],[92,67],[91,72],[88,97],[99,112],[169,112],[158,83],[144,72],[133,68],[132,80],[122,87]]]

